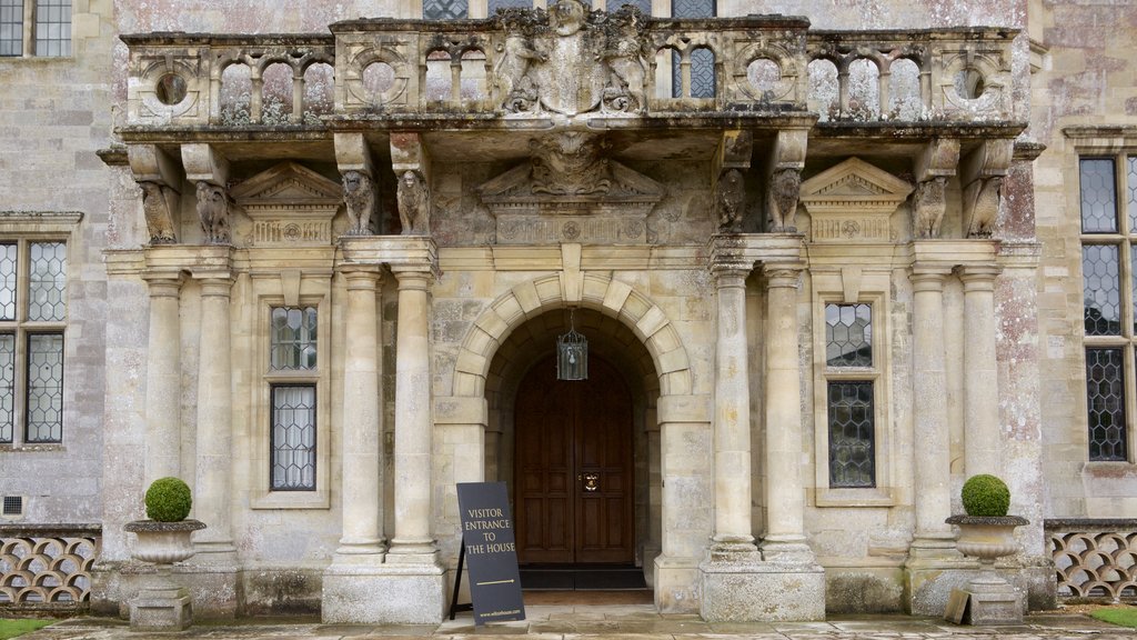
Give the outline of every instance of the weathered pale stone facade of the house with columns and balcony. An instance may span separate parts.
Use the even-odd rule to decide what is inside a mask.
[[[1137,9],[838,5],[74,2],[73,56],[0,58],[0,241],[67,246],[61,442],[17,424],[0,494],[102,524],[100,613],[175,475],[199,617],[438,621],[455,484],[530,508],[518,389],[575,328],[628,387],[661,610],[941,614],[977,473],[1051,606],[1043,520],[1137,517],[1135,438],[1087,452],[1084,347],[1121,343],[1085,339],[1078,214],[1079,158],[1137,157]],[[277,311],[312,360],[272,364]]]

